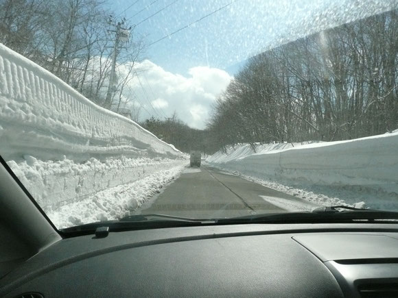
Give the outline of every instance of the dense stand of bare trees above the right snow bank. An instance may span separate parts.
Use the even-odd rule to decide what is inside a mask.
[[[398,128],[397,11],[250,58],[218,98],[209,129],[242,142],[346,140]]]

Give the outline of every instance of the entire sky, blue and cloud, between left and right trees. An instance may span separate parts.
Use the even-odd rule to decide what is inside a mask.
[[[154,105],[163,102],[155,108],[159,110],[158,118],[168,116],[175,110],[191,127],[204,128],[213,101],[229,83],[226,77],[230,76],[231,79],[250,56],[321,29],[397,8],[397,1],[116,0],[109,1],[107,5],[120,14],[119,18],[126,17],[128,25],[137,24],[133,38],[143,38],[145,45],[228,5],[202,21],[146,47],[142,58],[148,60],[145,66],[152,67],[152,77],[147,73],[148,77],[142,81],[144,84],[147,80],[151,82],[151,86],[144,86],[151,89],[151,92],[147,92],[147,95],[151,93],[151,97],[145,99],[144,91],[135,92],[146,105],[145,110],[149,111],[142,111],[142,119],[148,118],[152,113],[150,111],[154,110],[146,101],[152,101]],[[145,18],[148,20],[145,21]],[[156,74],[155,69],[159,71]],[[181,84],[180,79],[185,79],[183,84],[186,86],[194,84],[186,90],[190,92],[187,94],[194,94],[195,97],[187,99],[183,92],[178,92],[178,98],[174,97],[174,90],[181,89],[179,86],[161,89],[159,86],[167,84],[159,81],[159,73],[163,73],[168,78],[167,82],[172,84]],[[212,77],[213,82],[205,77]],[[208,84],[211,84],[210,88]],[[219,88],[214,88],[215,84]],[[134,88],[137,89],[137,84]],[[210,97],[211,100],[201,101],[201,98]],[[189,110],[197,102],[196,112]]]

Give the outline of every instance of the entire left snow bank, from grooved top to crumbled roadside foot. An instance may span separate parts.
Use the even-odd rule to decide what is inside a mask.
[[[117,219],[186,156],[0,44],[0,154],[57,227]]]

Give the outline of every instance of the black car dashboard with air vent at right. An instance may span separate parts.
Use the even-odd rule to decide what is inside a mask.
[[[395,224],[218,225],[64,238],[0,296],[398,297],[397,280]]]

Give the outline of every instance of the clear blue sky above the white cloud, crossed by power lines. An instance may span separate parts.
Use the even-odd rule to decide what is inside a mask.
[[[112,8],[125,16],[129,25],[139,24],[134,34],[143,36],[149,45],[232,0],[139,0],[132,5],[134,2],[115,1]],[[242,63],[250,55],[265,49],[277,36],[286,33],[286,24],[293,11],[296,19],[305,17],[308,9],[299,2],[303,1],[238,0],[191,27],[156,42],[145,49],[145,56],[173,73],[186,75],[191,67],[211,66],[233,75],[235,64]],[[316,10],[324,1],[313,2],[310,8]],[[159,14],[150,17],[156,12]],[[148,20],[143,21],[145,18]]]

